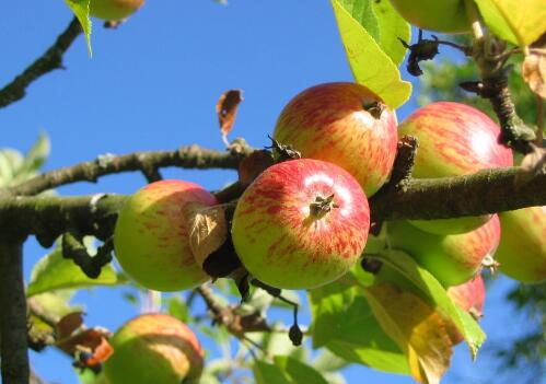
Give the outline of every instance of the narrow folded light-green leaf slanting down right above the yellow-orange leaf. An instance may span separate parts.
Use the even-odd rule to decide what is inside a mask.
[[[410,256],[394,249],[369,257],[391,266],[415,284],[421,298],[428,298],[430,304],[434,305],[446,319],[453,322],[468,342],[473,358],[476,358],[479,347],[486,339],[485,333],[469,314],[458,311],[445,289],[429,271],[421,268]]]

